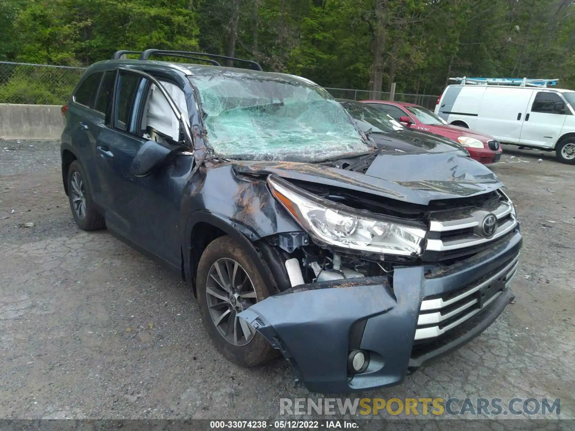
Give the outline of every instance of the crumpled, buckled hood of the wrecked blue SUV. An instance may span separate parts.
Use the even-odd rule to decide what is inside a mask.
[[[232,167],[240,174],[275,174],[420,205],[503,187],[499,178],[481,163],[454,153],[381,153],[365,174],[289,161],[237,161]]]

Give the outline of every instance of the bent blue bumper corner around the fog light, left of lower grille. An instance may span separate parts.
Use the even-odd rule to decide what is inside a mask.
[[[282,352],[310,391],[390,386],[407,373],[423,267],[396,270],[394,283],[401,290],[394,292],[386,276],[296,286],[238,316]],[[354,376],[348,373],[347,357],[355,343],[370,362]]]

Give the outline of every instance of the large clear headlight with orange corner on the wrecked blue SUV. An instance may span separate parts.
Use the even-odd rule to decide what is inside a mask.
[[[425,230],[366,217],[270,175],[271,193],[310,235],[340,248],[390,255],[421,254]]]

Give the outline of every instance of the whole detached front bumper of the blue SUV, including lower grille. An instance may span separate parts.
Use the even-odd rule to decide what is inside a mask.
[[[239,314],[292,363],[308,390],[346,393],[401,383],[406,374],[478,336],[514,298],[522,237],[451,267],[396,268],[387,277],[296,286]],[[350,374],[350,350],[369,355]]]

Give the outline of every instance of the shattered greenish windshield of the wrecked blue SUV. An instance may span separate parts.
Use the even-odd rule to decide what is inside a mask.
[[[208,146],[228,159],[321,161],[374,151],[321,87],[246,75],[190,81],[200,93]]]

